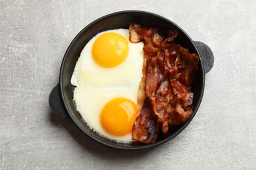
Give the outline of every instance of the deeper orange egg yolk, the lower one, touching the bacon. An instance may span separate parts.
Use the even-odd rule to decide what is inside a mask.
[[[126,98],[112,99],[100,113],[100,123],[110,134],[123,136],[131,133],[137,118],[137,106]]]

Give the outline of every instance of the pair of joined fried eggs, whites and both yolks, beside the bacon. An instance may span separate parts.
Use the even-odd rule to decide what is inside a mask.
[[[129,41],[128,29],[104,31],[85,45],[75,65],[76,109],[89,127],[109,139],[133,141],[143,46]]]

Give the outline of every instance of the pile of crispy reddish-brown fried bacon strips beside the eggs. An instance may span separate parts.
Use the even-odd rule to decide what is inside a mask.
[[[144,42],[143,76],[138,93],[139,116],[132,136],[140,143],[154,143],[161,133],[167,135],[172,126],[179,126],[192,116],[192,79],[198,70],[199,58],[173,40],[178,32],[167,31],[163,39],[158,28],[132,23],[130,41]]]

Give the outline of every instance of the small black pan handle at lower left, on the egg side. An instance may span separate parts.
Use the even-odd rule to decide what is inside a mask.
[[[49,96],[49,105],[51,110],[61,118],[68,118],[68,114],[64,109],[64,105],[60,95],[60,83],[58,83],[52,90]]]

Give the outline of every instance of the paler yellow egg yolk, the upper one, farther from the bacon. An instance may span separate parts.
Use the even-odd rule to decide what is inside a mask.
[[[115,67],[122,63],[129,51],[128,41],[118,33],[104,33],[93,43],[92,55],[103,67]]]

